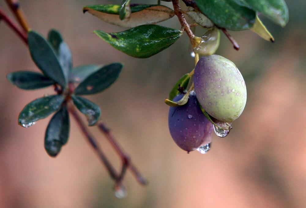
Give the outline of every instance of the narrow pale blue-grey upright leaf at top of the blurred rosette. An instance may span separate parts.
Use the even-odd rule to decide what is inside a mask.
[[[72,55],[68,45],[62,42],[58,49],[58,61],[62,66],[65,79],[68,80],[70,71],[72,69]]]

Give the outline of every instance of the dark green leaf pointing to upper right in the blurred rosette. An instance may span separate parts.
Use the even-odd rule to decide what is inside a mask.
[[[81,82],[74,90],[74,93],[77,95],[90,95],[103,91],[116,81],[122,67],[123,65],[120,63],[113,63],[100,68]]]

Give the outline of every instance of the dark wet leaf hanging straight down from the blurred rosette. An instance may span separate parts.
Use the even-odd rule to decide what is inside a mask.
[[[66,106],[63,106],[51,118],[45,133],[45,149],[51,157],[55,157],[61,151],[69,138],[69,113]]]

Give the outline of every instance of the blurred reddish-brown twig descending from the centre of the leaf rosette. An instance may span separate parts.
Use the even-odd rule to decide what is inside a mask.
[[[108,159],[106,158],[106,156],[104,155],[103,151],[101,150],[101,148],[99,147],[98,142],[96,141],[96,139],[92,136],[92,134],[89,132],[89,130],[87,129],[85,123],[82,121],[82,119],[80,118],[80,116],[77,114],[75,108],[73,105],[70,106],[69,108],[69,112],[71,113],[71,115],[73,116],[73,118],[76,120],[76,123],[78,124],[78,126],[80,127],[82,133],[84,134],[84,136],[86,137],[86,139],[88,140],[89,144],[91,145],[91,147],[95,150],[95,152],[97,153],[97,155],[99,156],[99,158],[101,159],[101,161],[103,162],[103,164],[105,165],[106,169],[108,170],[110,177],[112,177],[115,181],[118,181],[118,173],[116,172],[116,170],[114,169],[114,167],[110,164],[110,162],[108,161]]]

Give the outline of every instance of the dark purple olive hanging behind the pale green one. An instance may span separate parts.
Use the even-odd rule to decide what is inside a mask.
[[[173,101],[178,101],[182,97],[183,95],[178,95]],[[170,107],[168,124],[174,142],[187,152],[211,142],[213,124],[201,111],[193,91],[185,105]]]

